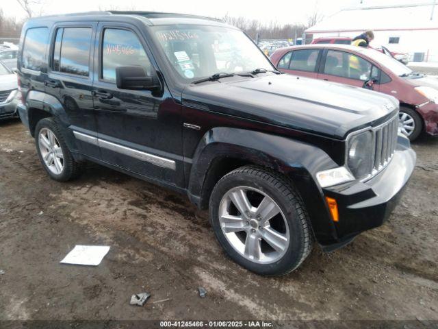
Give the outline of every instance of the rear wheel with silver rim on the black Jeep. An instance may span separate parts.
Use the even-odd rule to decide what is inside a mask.
[[[42,167],[53,180],[66,182],[80,175],[83,165],[73,158],[55,119],[38,121],[35,141]]]

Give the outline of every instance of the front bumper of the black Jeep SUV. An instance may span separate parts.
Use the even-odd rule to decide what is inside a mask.
[[[322,248],[331,251],[342,247],[357,234],[387,221],[411,178],[415,161],[416,155],[409,140],[399,135],[391,162],[374,178],[324,188],[324,195],[337,201],[339,221],[333,223],[336,241],[322,245]]]

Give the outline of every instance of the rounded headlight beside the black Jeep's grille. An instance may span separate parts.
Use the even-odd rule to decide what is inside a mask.
[[[371,131],[352,135],[347,141],[346,163],[357,180],[372,173],[373,134]]]

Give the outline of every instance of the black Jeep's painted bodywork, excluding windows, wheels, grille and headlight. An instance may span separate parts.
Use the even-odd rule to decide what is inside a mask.
[[[23,123],[34,134],[38,119],[53,116],[76,160],[92,160],[187,193],[202,208],[208,205],[218,173],[223,174],[217,164],[222,170],[257,164],[283,173],[300,193],[315,239],[327,250],[387,219],[415,164],[415,153],[405,138],[399,138],[387,168],[368,182],[323,189],[315,175],[345,164],[350,132],[394,116],[398,111],[394,97],[269,72],[183,85],[173,76],[150,29],[178,24],[228,26],[202,17],[146,12],[27,21],[21,49],[29,29],[47,27],[50,33],[42,45],[45,64],[40,71],[24,69],[22,53],[18,56],[25,103],[18,112]],[[53,49],[57,29],[62,27],[92,29],[87,76],[55,71]],[[162,84],[159,93],[120,90],[103,79],[105,28],[127,29],[138,36]],[[339,223],[331,219],[326,196],[338,200]]]

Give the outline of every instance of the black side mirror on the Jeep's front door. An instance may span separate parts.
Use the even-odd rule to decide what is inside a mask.
[[[131,90],[162,90],[162,84],[157,77],[149,77],[142,66],[116,67],[116,84],[120,89]]]

